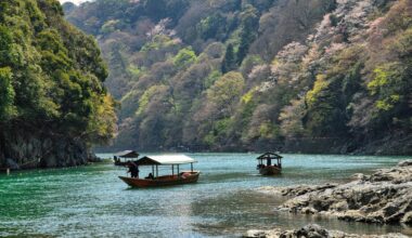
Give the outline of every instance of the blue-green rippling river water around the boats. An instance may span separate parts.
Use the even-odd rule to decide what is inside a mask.
[[[256,191],[269,185],[344,182],[405,157],[284,155],[283,174],[262,177],[255,169],[258,155],[189,156],[198,160],[198,183],[155,189],[128,188],[117,178],[126,169],[108,162],[1,174],[0,237],[239,237],[252,228],[308,223],[347,233],[412,235],[411,227],[275,213],[273,208],[282,201]],[[141,175],[149,172],[141,169]],[[159,174],[168,172],[169,168]]]

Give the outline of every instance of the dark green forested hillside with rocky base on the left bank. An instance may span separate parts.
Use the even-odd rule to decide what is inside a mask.
[[[56,0],[0,2],[0,168],[83,164],[116,129],[107,69]]]

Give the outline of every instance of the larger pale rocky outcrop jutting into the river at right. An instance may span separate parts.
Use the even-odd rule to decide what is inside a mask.
[[[278,211],[335,216],[364,223],[412,225],[412,160],[356,174],[347,184],[263,187],[261,191],[287,196]]]

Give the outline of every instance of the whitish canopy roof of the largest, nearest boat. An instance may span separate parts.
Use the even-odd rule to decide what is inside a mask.
[[[138,166],[172,166],[194,162],[197,161],[185,155],[145,156],[137,161]]]

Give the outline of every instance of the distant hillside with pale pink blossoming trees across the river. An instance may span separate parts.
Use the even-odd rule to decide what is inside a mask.
[[[98,0],[115,148],[412,153],[412,0]]]

